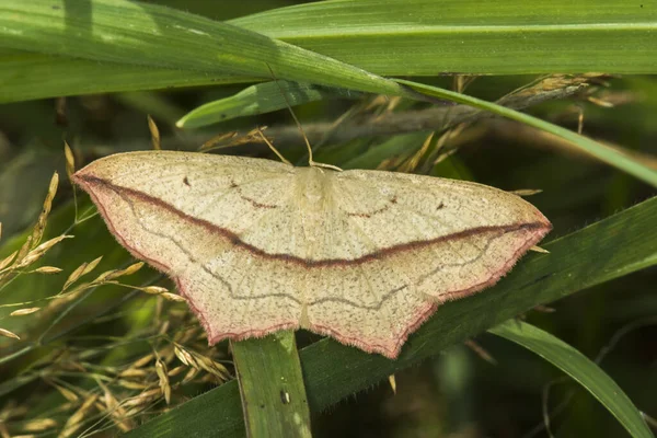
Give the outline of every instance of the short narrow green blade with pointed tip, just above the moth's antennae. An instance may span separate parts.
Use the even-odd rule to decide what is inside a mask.
[[[206,103],[185,114],[176,123],[176,126],[178,128],[199,128],[235,117],[283,110],[287,107],[288,102],[291,106],[296,106],[324,99],[358,99],[362,95],[357,91],[345,89],[288,81],[276,82],[251,85],[230,97]]]

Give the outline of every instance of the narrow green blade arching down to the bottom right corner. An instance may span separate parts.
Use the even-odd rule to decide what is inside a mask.
[[[623,390],[595,362],[568,344],[521,321],[506,321],[489,332],[523,346],[561,368],[598,399],[634,438],[654,438]]]

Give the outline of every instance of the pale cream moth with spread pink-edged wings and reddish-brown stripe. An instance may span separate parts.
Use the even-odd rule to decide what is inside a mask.
[[[395,358],[440,303],[495,284],[551,230],[514,194],[393,172],[149,151],[73,178],[210,344],[303,327]]]

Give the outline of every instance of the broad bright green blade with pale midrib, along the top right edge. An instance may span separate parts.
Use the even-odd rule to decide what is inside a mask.
[[[657,69],[657,9],[626,0],[333,0],[230,23],[384,76]]]

